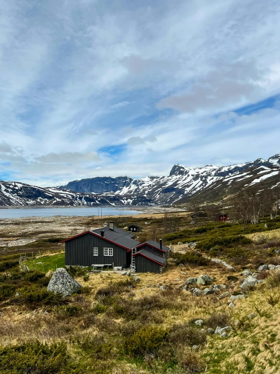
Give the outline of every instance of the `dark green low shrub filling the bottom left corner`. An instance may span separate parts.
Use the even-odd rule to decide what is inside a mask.
[[[25,343],[0,348],[0,372],[9,374],[74,374],[78,368],[67,353],[65,343]]]

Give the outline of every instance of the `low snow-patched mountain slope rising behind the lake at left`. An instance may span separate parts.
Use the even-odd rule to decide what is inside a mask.
[[[153,205],[145,196],[77,193],[56,187],[36,187],[19,182],[0,181],[0,205]]]

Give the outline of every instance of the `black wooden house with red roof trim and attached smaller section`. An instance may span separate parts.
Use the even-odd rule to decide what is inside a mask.
[[[109,227],[85,231],[62,240],[61,243],[65,243],[65,265],[128,268],[131,265],[132,248],[135,248],[133,256],[136,272],[162,272],[169,248],[154,240],[139,247],[140,243],[133,236],[131,232],[110,222]]]

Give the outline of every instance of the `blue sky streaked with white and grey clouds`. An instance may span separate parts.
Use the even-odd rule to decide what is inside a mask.
[[[0,179],[280,153],[280,3],[0,0]]]

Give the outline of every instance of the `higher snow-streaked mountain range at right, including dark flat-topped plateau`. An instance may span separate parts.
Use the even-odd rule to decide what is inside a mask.
[[[257,170],[259,177],[250,182],[250,177],[254,178],[255,170]],[[186,201],[198,191],[203,190],[207,194],[207,188],[218,181],[220,183],[225,181],[228,187],[235,185],[239,179],[243,178],[256,184],[273,177],[273,181],[275,180],[277,184],[280,182],[279,171],[280,154],[275,154],[267,160],[258,158],[255,161],[223,167],[206,165],[203,168],[193,168],[176,164],[171,169],[169,176],[164,177],[152,176],[139,179],[98,177],[69,182],[66,186],[61,187],[81,191],[86,186],[86,192],[110,192],[115,195],[133,194],[145,196],[156,204],[171,204],[179,202],[181,199]]]

